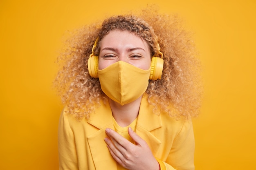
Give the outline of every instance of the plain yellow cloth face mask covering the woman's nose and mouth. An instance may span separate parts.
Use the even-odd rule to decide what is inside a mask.
[[[150,68],[143,70],[123,61],[98,70],[101,90],[122,106],[138,99],[148,87]]]

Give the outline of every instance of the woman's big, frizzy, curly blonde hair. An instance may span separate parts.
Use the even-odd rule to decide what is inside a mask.
[[[150,11],[150,12],[149,12]],[[143,38],[152,56],[157,43],[164,59],[162,79],[149,80],[146,94],[154,113],[162,110],[171,117],[196,117],[201,104],[200,62],[196,57],[191,33],[186,31],[176,15],[159,14],[157,10],[145,9],[139,15],[117,15],[101,24],[84,26],[72,33],[65,50],[58,57],[61,66],[55,85],[70,113],[77,119],[88,119],[101,101],[107,97],[101,91],[99,79],[88,72],[88,58],[94,41],[98,44],[94,54],[98,55],[101,40],[112,30],[130,31]]]

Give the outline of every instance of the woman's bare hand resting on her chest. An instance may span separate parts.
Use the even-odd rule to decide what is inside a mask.
[[[159,170],[159,164],[146,141],[130,127],[128,133],[135,144],[132,144],[114,130],[106,129],[109,138],[107,137],[104,140],[112,157],[128,170]]]

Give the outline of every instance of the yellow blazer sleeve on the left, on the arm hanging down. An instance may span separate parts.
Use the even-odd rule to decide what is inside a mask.
[[[74,133],[65,110],[62,111],[58,125],[59,170],[78,170]]]

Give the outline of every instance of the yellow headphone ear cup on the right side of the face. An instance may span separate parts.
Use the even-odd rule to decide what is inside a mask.
[[[152,57],[149,79],[157,80],[162,78],[164,60],[160,57]]]

